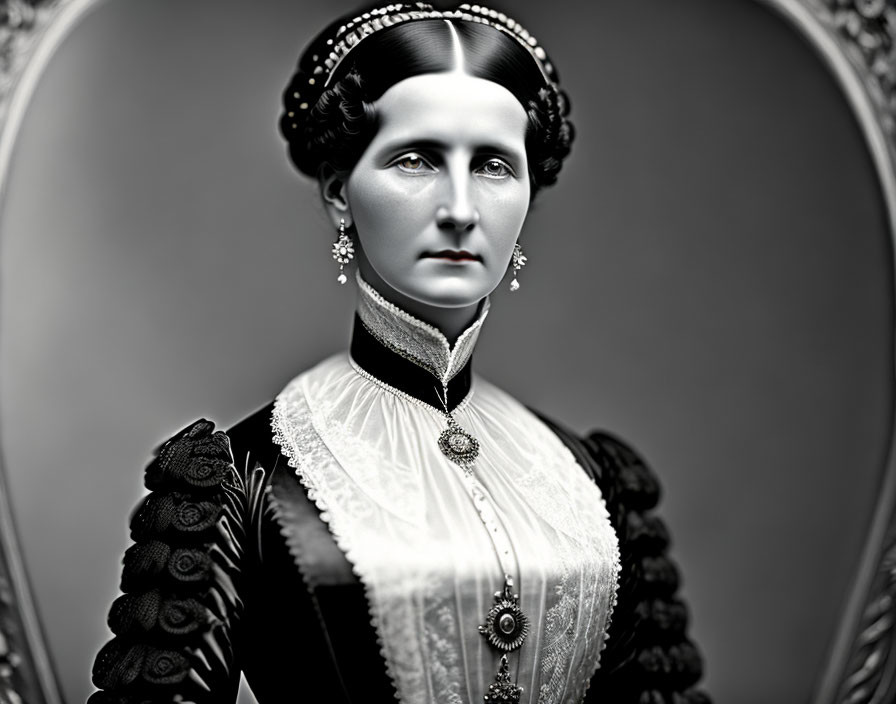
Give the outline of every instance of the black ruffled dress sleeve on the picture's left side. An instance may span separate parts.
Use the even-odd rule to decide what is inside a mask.
[[[246,498],[227,435],[207,420],[184,428],[145,484],[88,704],[234,702]]]

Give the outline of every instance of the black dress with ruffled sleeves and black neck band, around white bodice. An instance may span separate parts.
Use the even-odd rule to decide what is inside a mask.
[[[403,393],[439,402],[428,373],[359,321],[351,356]],[[449,409],[471,377],[467,360],[448,384]],[[241,672],[262,704],[395,701],[364,588],[274,441],[272,410],[226,432],[191,423],[147,467],[151,493],[131,521],[114,638],[96,658],[90,704],[232,703]],[[654,514],[656,477],[612,435],[581,438],[542,421],[600,487],[619,541],[616,606],[584,701],[708,702],[694,688],[701,658]],[[331,564],[336,578],[303,579],[298,551]]]

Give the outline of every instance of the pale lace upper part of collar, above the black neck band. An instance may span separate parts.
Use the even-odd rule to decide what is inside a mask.
[[[443,387],[467,367],[479,339],[482,323],[488,315],[487,298],[483,301],[476,320],[464,330],[452,347],[441,330],[389,303],[361,278],[360,273],[356,279],[360,291],[358,318],[377,342],[428,371]]]

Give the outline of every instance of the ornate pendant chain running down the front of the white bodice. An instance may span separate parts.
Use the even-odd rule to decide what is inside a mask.
[[[510,570],[502,558],[502,554],[509,558],[512,548],[494,508],[473,475],[473,463],[479,456],[479,441],[461,428],[448,410],[447,386],[443,386],[443,392],[442,413],[447,419],[448,427],[439,435],[439,449],[463,470],[473,505],[486,528],[498,563],[504,572],[504,586],[495,592],[494,604],[486,614],[485,622],[479,626],[479,633],[488,644],[501,651],[501,662],[495,681],[488,686],[488,692],[482,700],[485,704],[519,704],[523,688],[510,679],[507,653],[518,650],[523,645],[529,634],[529,619],[520,608],[520,596],[513,591],[513,577],[510,576]]]

